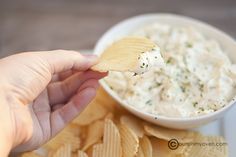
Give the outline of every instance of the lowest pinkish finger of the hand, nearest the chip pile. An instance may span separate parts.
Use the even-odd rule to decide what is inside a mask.
[[[83,85],[83,89],[79,90],[66,105],[52,113],[52,135],[58,133],[85,108],[85,106],[95,97],[98,86],[98,80],[87,80]]]

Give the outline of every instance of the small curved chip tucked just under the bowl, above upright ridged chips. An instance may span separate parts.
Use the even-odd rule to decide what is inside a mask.
[[[123,115],[120,117],[120,123],[128,126],[138,137],[141,138],[143,137],[144,129],[143,126],[140,124],[140,121],[138,121],[137,118],[135,119],[131,116]]]

